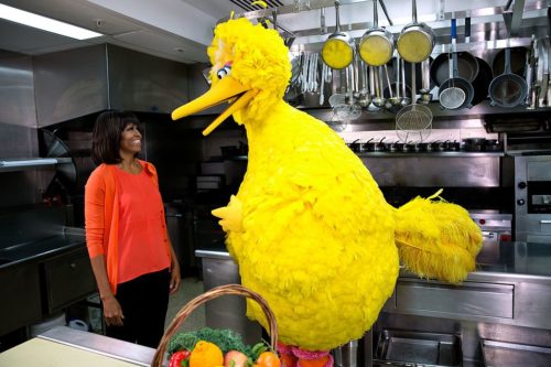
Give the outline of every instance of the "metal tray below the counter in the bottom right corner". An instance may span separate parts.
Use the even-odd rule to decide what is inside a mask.
[[[551,348],[487,339],[480,344],[486,367],[551,366]]]

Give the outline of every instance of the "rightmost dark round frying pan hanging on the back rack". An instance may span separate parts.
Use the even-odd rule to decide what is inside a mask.
[[[525,78],[511,73],[509,40],[505,48],[505,72],[491,80],[488,88],[491,106],[516,107],[520,105],[528,91]]]

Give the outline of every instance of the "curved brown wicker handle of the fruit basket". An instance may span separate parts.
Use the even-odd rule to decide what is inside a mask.
[[[166,327],[166,331],[164,332],[164,335],[161,338],[161,342],[159,343],[159,347],[156,348],[151,366],[162,367],[164,354],[166,353],[166,345],[169,344],[172,336],[174,336],[179,327],[184,323],[187,316],[195,309],[197,309],[199,305],[209,300],[226,294],[245,295],[248,299],[255,300],[260,305],[260,307],[264,312],[266,319],[268,320],[270,326],[269,330],[270,346],[272,347],[273,350],[276,350],[276,346],[278,343],[278,325],[276,323],[276,316],[273,315],[273,312],[268,306],[268,302],[266,302],[266,300],[261,298],[260,294],[252,292],[251,290],[242,285],[227,284],[213,288],[212,290],[201,295],[197,295],[195,299],[191,300],[186,305],[184,305],[182,310],[179,311],[179,313],[174,316],[174,319],[170,323],[169,327]]]

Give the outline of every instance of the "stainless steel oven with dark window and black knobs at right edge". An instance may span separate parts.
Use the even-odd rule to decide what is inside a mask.
[[[515,156],[515,238],[551,244],[551,155]]]

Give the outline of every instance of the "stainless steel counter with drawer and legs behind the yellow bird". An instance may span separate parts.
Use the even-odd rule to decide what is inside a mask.
[[[461,285],[420,279],[402,268],[372,331],[461,334],[464,366],[480,365],[482,338],[547,345],[551,331],[551,244],[501,242],[490,253]],[[222,244],[195,255],[203,259],[205,287],[207,278],[239,280],[237,266]],[[220,310],[226,322],[228,315],[234,324],[246,321],[242,310],[228,312],[226,305]],[[371,337],[372,333],[367,333],[364,341],[364,366],[372,366]]]

